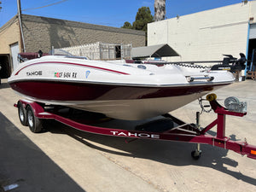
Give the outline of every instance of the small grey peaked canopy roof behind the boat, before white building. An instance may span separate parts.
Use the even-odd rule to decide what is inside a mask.
[[[156,44],[147,47],[132,48],[131,55],[132,58],[179,56],[168,44]]]

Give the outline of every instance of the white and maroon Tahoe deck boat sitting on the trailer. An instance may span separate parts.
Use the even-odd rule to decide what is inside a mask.
[[[171,112],[234,81],[232,73],[202,67],[90,61],[45,55],[20,63],[9,84],[32,102],[148,119]]]

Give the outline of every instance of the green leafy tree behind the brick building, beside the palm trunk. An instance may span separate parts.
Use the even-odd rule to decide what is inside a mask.
[[[138,9],[135,21],[132,23],[132,26],[131,23],[126,21],[122,28],[143,30],[144,32],[147,32],[148,23],[153,21],[154,20],[153,16],[151,15],[150,9],[148,7],[142,7]]]

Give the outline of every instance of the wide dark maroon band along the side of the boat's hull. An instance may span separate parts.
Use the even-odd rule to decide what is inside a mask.
[[[224,85],[224,84],[221,84]],[[180,87],[136,87],[111,84],[83,84],[55,81],[22,81],[11,83],[12,89],[25,96],[55,101],[108,101],[185,96],[212,91],[218,85]]]

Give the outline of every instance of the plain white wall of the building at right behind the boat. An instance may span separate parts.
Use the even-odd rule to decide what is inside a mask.
[[[253,9],[255,2],[238,3],[150,23],[148,45],[167,43],[181,55],[167,61],[222,60],[223,54],[239,57],[247,51]]]

